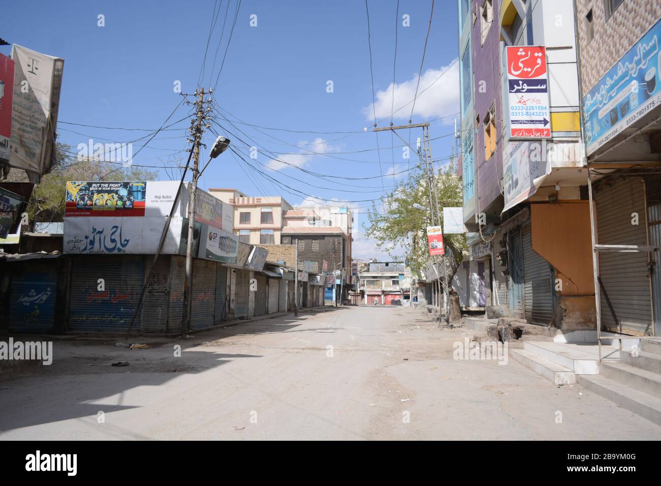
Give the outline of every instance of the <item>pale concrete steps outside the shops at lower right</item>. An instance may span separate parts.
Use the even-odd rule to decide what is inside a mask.
[[[625,342],[629,342],[626,339]],[[661,339],[640,339],[637,355],[617,339],[602,344],[545,341],[524,342],[510,358],[541,374],[553,384],[578,383],[621,407],[661,425]]]

